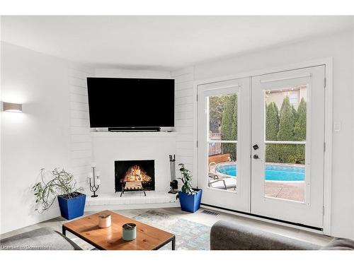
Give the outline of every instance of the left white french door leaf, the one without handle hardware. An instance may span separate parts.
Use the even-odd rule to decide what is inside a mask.
[[[250,211],[249,85],[249,78],[241,78],[198,86],[198,186],[204,204]]]

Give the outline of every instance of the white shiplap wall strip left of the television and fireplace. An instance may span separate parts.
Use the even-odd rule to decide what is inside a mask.
[[[79,186],[86,189],[92,162],[87,76],[94,76],[94,70],[74,64],[69,67],[72,172]]]

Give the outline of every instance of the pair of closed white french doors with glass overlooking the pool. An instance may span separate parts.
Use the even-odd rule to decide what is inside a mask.
[[[203,204],[323,227],[324,71],[198,86]]]

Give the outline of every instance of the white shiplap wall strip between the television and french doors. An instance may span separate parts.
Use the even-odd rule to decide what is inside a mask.
[[[188,67],[171,72],[176,86],[176,164],[184,163],[192,173],[195,170],[195,93],[194,93],[194,68]],[[178,167],[178,166],[177,166]],[[179,172],[177,172],[177,177]],[[196,184],[197,177],[193,177]]]

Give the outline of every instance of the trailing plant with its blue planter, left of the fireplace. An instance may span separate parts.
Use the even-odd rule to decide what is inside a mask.
[[[41,182],[37,182],[33,187],[35,202],[38,207],[35,211],[43,213],[49,209],[55,198],[58,198],[60,213],[67,220],[83,216],[86,201],[86,195],[79,191],[81,187],[76,188],[74,176],[64,169],[61,171],[55,168],[50,172],[52,179],[45,181],[45,170],[40,170]]]

